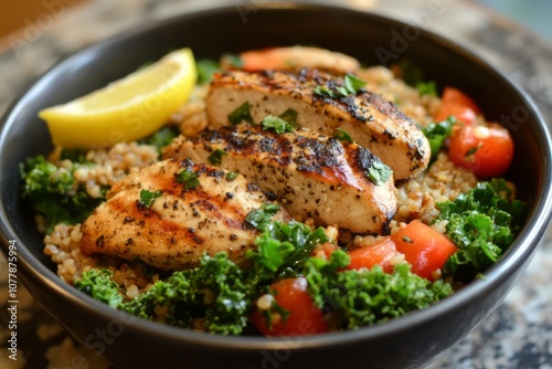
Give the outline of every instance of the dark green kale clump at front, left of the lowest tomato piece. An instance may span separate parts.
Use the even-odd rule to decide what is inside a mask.
[[[251,307],[250,289],[243,280],[243,271],[227,254],[204,254],[200,266],[174,272],[119,308],[147,319],[156,317],[156,309],[164,308],[167,324],[190,328],[195,318],[201,318],[208,331],[240,335]]]

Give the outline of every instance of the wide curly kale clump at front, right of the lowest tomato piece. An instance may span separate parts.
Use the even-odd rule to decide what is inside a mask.
[[[343,251],[333,252],[329,261],[311,257],[305,277],[315,305],[331,312],[349,329],[426,308],[453,293],[447,283],[412,274],[408,264],[396,265],[392,274],[379,266],[343,271],[347,265],[349,255]]]

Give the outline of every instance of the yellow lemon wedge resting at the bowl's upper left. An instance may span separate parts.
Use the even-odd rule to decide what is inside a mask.
[[[144,138],[161,128],[195,85],[190,49],[173,51],[104,88],[39,112],[53,144],[95,148]]]

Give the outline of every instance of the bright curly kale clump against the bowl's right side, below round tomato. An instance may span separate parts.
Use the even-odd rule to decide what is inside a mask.
[[[503,179],[492,179],[478,183],[455,201],[437,204],[437,221],[448,221],[446,234],[459,249],[445,264],[446,276],[469,282],[510,246],[527,217],[527,205],[510,200],[511,194]]]

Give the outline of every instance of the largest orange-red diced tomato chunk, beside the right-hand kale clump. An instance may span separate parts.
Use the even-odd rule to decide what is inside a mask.
[[[418,220],[410,222],[391,235],[396,250],[412,265],[412,273],[434,281],[435,272],[443,268],[457,247],[446,235]]]

